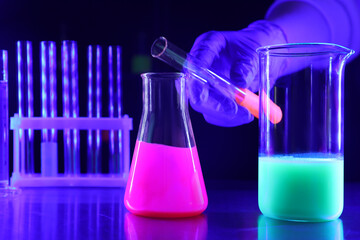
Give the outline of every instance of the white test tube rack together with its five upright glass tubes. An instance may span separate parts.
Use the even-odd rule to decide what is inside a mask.
[[[62,41],[61,65],[56,62],[56,54],[59,54],[56,49],[55,42],[40,43],[41,76],[34,79],[32,42],[17,42],[19,109],[10,118],[10,129],[14,136],[10,184],[14,187],[124,187],[129,174],[132,119],[122,114],[121,47],[108,46],[107,61],[103,61],[102,46],[88,46],[87,117],[79,115],[79,75],[82,74],[81,79],[84,80],[85,72],[78,71],[77,42]],[[107,67],[108,75],[103,76],[106,71],[102,66]],[[57,89],[60,70],[62,95],[57,98],[60,92]],[[41,117],[34,116],[34,81],[41,86]],[[108,82],[105,85],[108,89],[102,89],[102,82]],[[109,91],[108,115],[101,111],[102,107],[106,107],[102,106],[102,90]],[[58,101],[63,103],[62,116],[57,115]],[[87,155],[80,151],[81,130],[87,132]],[[36,159],[34,149],[39,139],[35,141],[35,131],[41,132],[41,147],[36,152],[41,154]],[[105,144],[105,147],[111,149],[109,156],[102,154],[102,131],[109,132],[109,146]],[[57,136],[61,132],[63,139],[60,140]],[[62,165],[59,165],[61,159],[58,161],[61,143],[64,143],[64,172],[61,170]],[[86,158],[87,171],[81,171],[84,166],[81,154],[83,160]],[[35,166],[39,166],[35,164],[38,160],[41,170],[35,171]],[[106,171],[104,163],[109,163],[109,171]]]

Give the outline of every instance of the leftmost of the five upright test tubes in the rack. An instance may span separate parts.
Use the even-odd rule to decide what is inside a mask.
[[[19,117],[33,117],[33,59],[32,43],[18,41],[17,78],[18,78],[18,113]],[[20,172],[34,173],[34,131],[20,130]]]

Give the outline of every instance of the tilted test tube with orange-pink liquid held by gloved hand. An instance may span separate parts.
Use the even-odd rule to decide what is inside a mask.
[[[169,64],[179,71],[187,73],[186,78],[199,81],[206,86],[210,91],[221,93],[224,97],[222,101],[226,101],[228,105],[229,100],[232,105],[232,112],[228,113],[228,117],[236,116],[238,106],[246,108],[252,115],[259,117],[259,96],[248,89],[239,88],[231,83],[231,81],[219,73],[214,72],[210,68],[203,66],[202,62],[186,53],[179,47],[169,42],[165,37],[156,39],[151,47],[151,55],[161,61]],[[269,102],[269,120],[273,123],[278,123],[282,119],[281,109],[272,101]]]

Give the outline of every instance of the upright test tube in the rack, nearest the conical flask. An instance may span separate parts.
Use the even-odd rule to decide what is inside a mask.
[[[121,118],[121,47],[109,46],[109,117]],[[123,174],[124,159],[122,158],[122,132],[110,131],[110,163],[109,173]]]

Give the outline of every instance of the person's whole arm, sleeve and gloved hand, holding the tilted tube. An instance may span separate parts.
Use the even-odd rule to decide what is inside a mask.
[[[360,0],[278,0],[269,8],[265,20],[238,31],[204,33],[196,39],[190,53],[236,86],[256,92],[259,87],[256,49],[300,42],[335,43],[359,54]],[[207,122],[231,127],[252,121],[249,112],[231,99],[211,91],[206,84],[188,82],[190,104]]]

